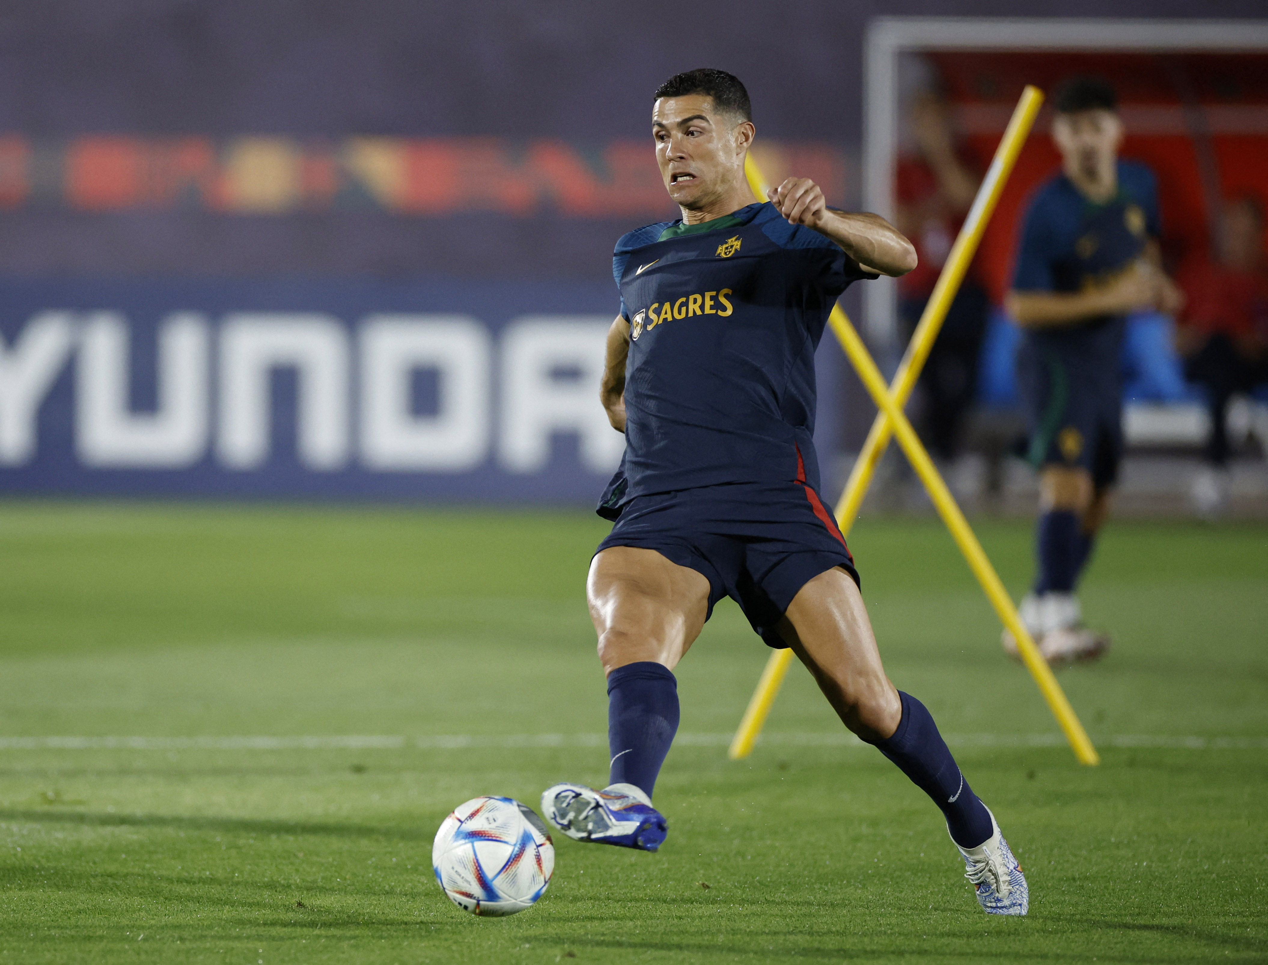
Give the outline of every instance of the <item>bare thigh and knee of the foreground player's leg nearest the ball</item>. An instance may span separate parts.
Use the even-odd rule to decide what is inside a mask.
[[[586,602],[605,673],[640,661],[673,670],[705,625],[709,581],[654,549],[609,547],[590,564]]]

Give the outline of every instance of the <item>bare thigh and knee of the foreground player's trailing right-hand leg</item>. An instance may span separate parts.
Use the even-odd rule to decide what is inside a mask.
[[[885,676],[862,595],[843,569],[803,586],[780,629],[851,730],[872,739],[894,733],[902,703]]]

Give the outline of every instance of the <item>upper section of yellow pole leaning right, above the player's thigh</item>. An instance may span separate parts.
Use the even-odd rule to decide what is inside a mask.
[[[1004,131],[1003,138],[999,141],[999,147],[995,148],[995,156],[990,162],[990,167],[987,170],[987,176],[981,180],[981,186],[978,189],[978,197],[974,198],[973,207],[969,209],[969,214],[964,219],[964,226],[960,228],[960,235],[956,237],[955,245],[947,255],[946,264],[942,266],[942,273],[938,275],[938,282],[933,287],[929,301],[924,304],[919,325],[915,326],[915,331],[912,334],[912,341],[903,354],[898,372],[894,373],[889,396],[899,408],[907,405],[912,389],[915,388],[915,379],[919,377],[921,369],[924,368],[924,361],[929,356],[933,341],[942,330],[942,322],[951,308],[951,302],[955,301],[956,292],[960,290],[960,283],[964,282],[964,276],[969,270],[969,264],[978,252],[978,245],[981,242],[987,223],[995,210],[999,195],[1004,191],[1004,184],[1008,181],[1008,175],[1012,174],[1013,166],[1017,164],[1017,156],[1026,143],[1026,137],[1035,124],[1035,117],[1038,114],[1042,103],[1042,91],[1030,85],[1026,86],[1021,100],[1017,101],[1013,117],[1008,122],[1008,128]],[[867,487],[876,473],[876,465],[885,454],[885,446],[889,445],[891,431],[885,413],[877,412],[871,431],[867,434],[867,440],[864,443],[864,448],[855,460],[853,469],[850,472],[850,481],[846,483],[844,492],[842,492],[841,500],[837,502],[837,524],[841,526],[842,533],[853,525],[855,517],[858,515],[858,507],[862,505]]]

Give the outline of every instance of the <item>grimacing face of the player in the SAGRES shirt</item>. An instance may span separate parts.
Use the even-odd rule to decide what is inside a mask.
[[[713,98],[661,98],[652,108],[656,161],[664,188],[681,207],[708,208],[744,176],[753,126],[714,109]]]

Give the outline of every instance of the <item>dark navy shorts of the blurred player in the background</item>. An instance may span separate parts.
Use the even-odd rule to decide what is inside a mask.
[[[1112,330],[1097,335],[1073,345],[1027,339],[1017,354],[1017,385],[1031,465],[1087,469],[1099,489],[1117,482],[1123,445],[1121,340]]]

